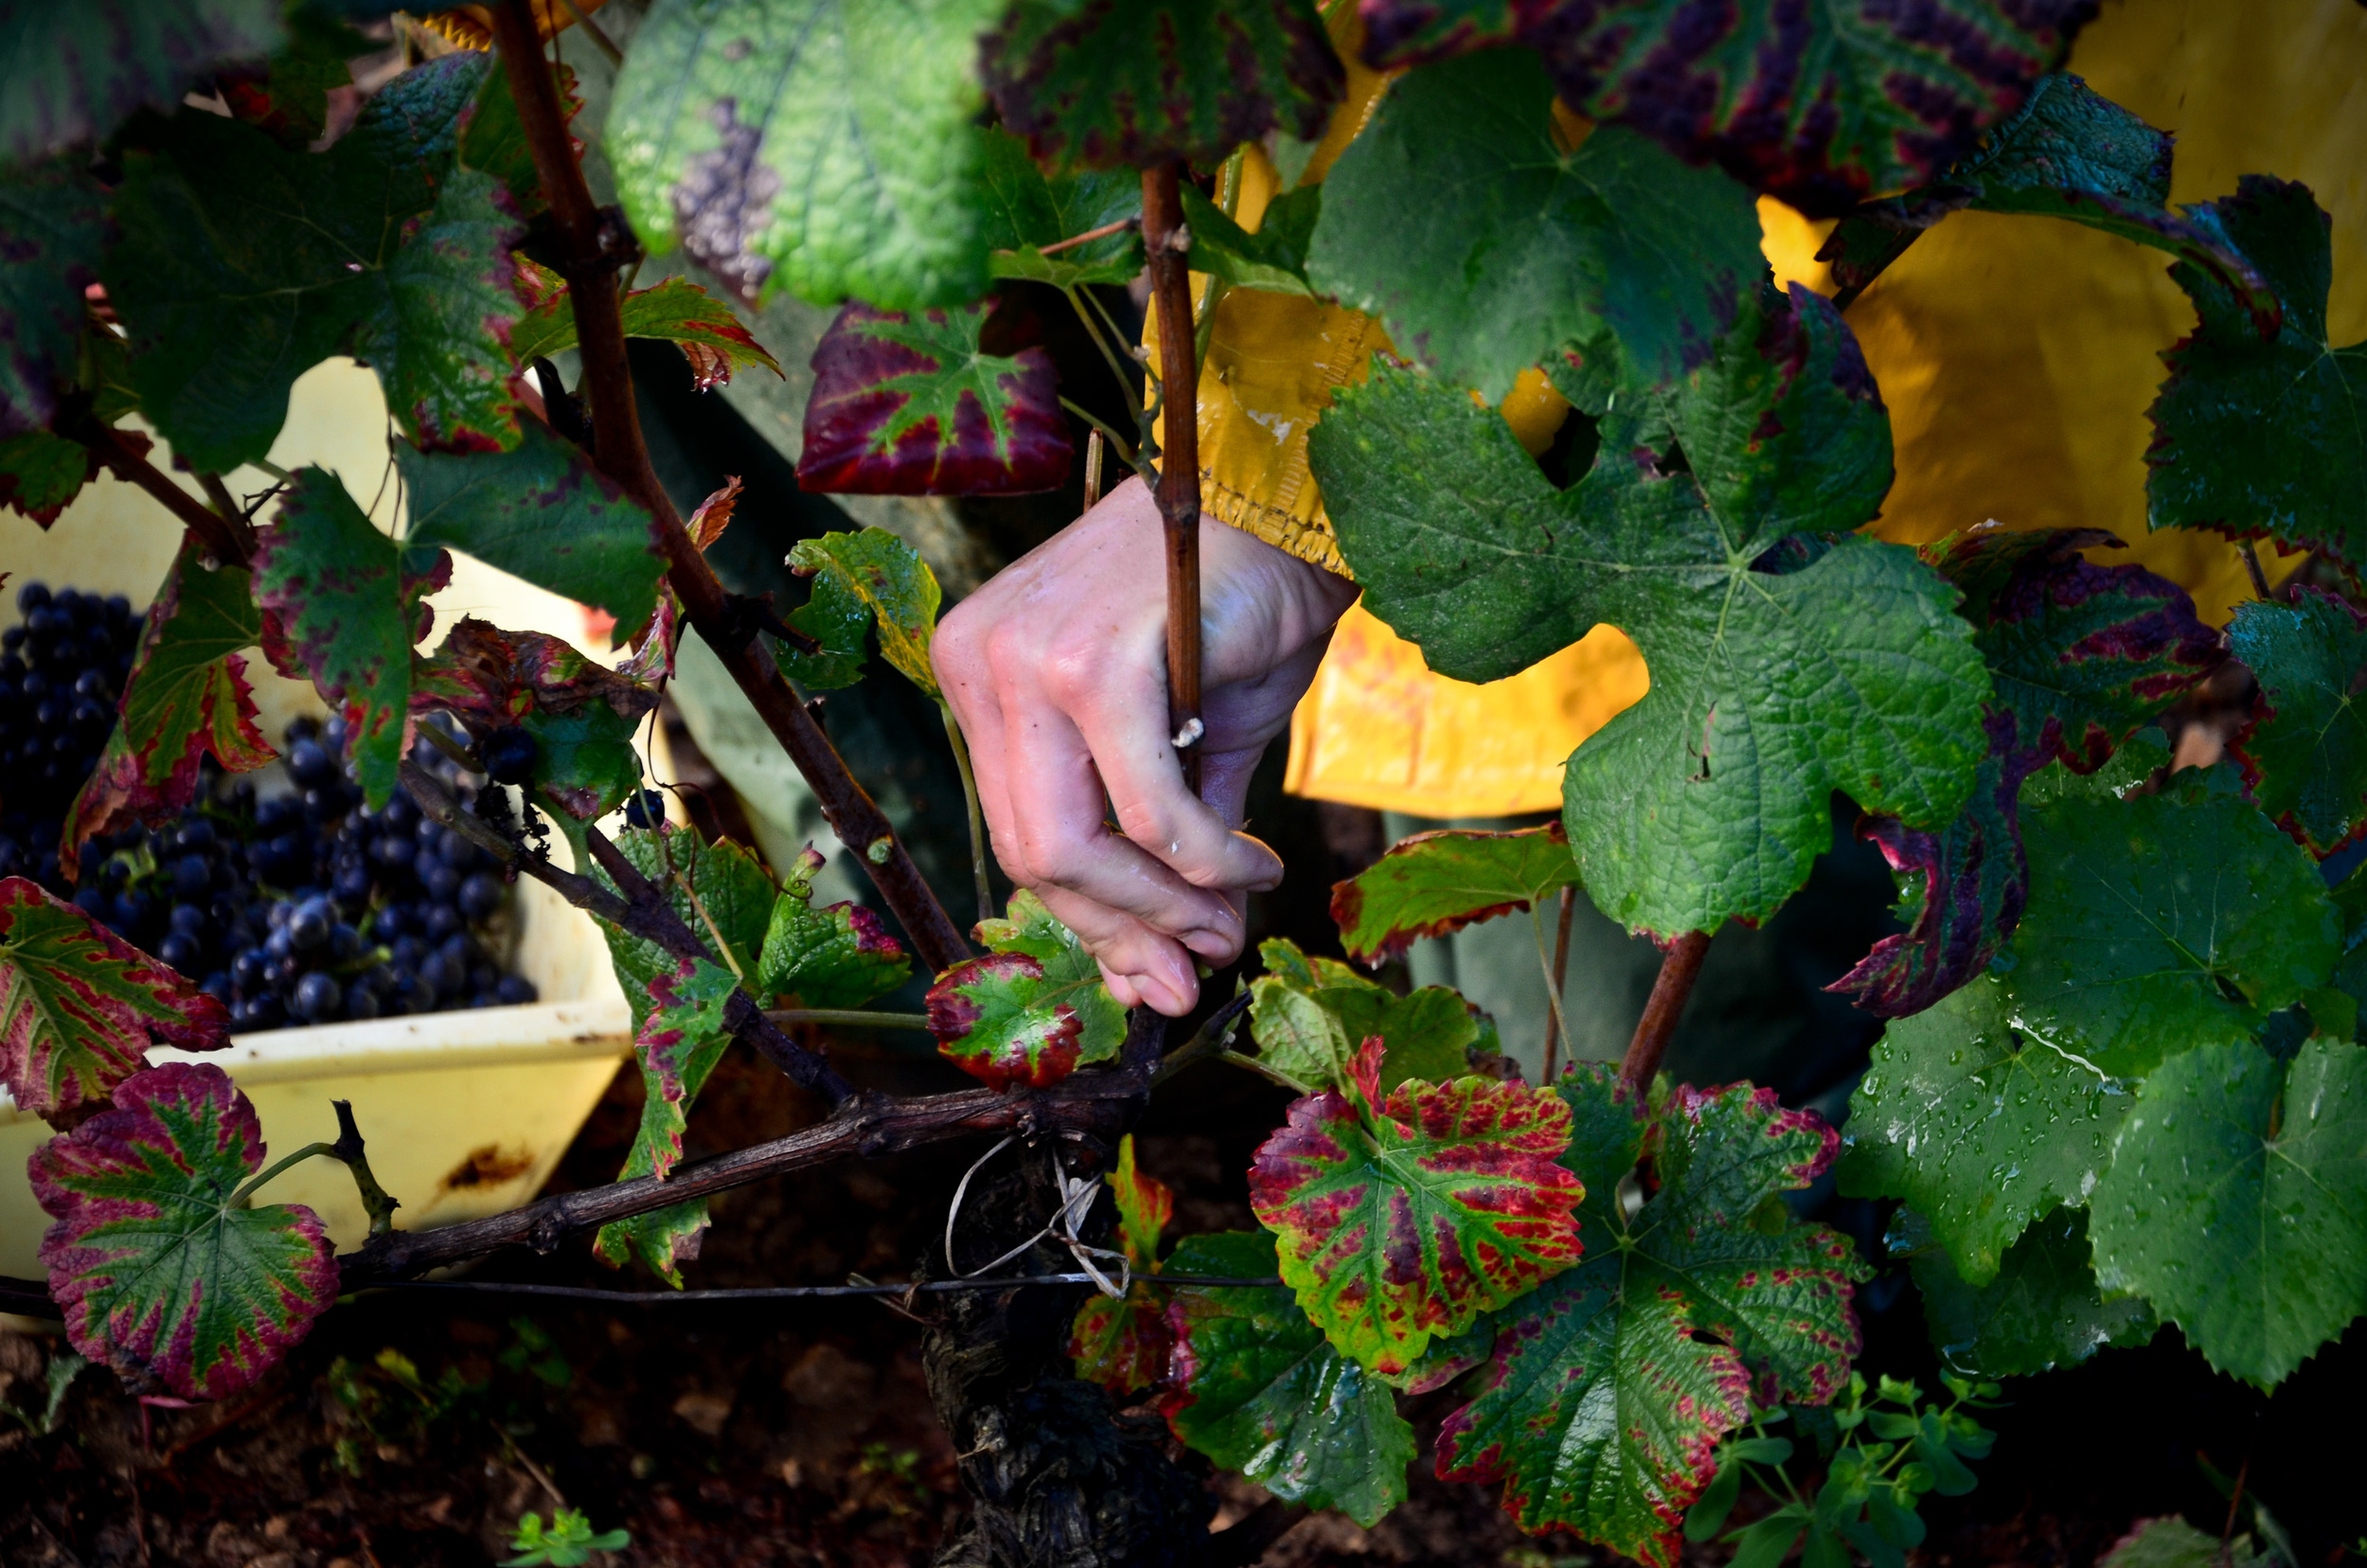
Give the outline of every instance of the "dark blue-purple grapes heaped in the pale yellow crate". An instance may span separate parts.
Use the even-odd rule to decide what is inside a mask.
[[[71,590],[52,597],[33,583],[19,604],[66,604],[71,625],[92,616],[104,625],[130,625],[137,637],[128,606],[118,616],[111,602]],[[90,611],[92,604],[99,609]],[[52,661],[64,642],[57,618],[47,625],[52,630],[43,637],[31,630],[17,637],[43,661]],[[97,637],[78,632],[73,642],[97,647]],[[123,661],[121,668],[107,666],[114,680],[128,670],[128,654]],[[14,680],[21,692],[24,677]],[[104,720],[114,722],[111,687]],[[80,734],[80,725],[73,732]],[[43,786],[54,789],[54,805],[52,796],[33,796],[17,808],[14,772],[0,775],[7,777],[0,784],[9,793],[7,822],[17,827],[21,820],[26,834],[0,838],[0,874],[28,874],[52,893],[71,895],[123,940],[196,976],[204,990],[230,1004],[232,1028],[535,1000],[530,981],[502,973],[495,962],[492,924],[509,902],[499,867],[457,829],[428,822],[400,791],[381,810],[369,810],[341,763],[341,718],[289,725],[282,767],[294,789],[258,791],[253,779],[225,782],[208,758],[199,798],[178,822],[102,834],[83,846],[78,881],[64,883],[57,874],[59,820],[104,737],[102,725],[71,777],[43,775]],[[412,760],[438,775],[471,810],[497,820],[509,815],[507,791],[478,793],[476,775],[428,741],[412,748]],[[54,815],[38,817],[36,810]],[[36,860],[40,853],[47,857]]]

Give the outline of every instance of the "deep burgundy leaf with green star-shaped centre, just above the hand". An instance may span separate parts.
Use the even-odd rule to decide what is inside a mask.
[[[1041,348],[987,353],[989,306],[847,306],[814,348],[798,488],[1025,495],[1068,481],[1068,415]]]

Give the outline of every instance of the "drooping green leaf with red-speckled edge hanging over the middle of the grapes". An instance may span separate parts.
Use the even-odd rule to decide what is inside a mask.
[[[253,587],[265,647],[284,647],[343,711],[362,793],[372,808],[386,805],[412,699],[414,623],[395,542],[362,516],[336,474],[296,469],[279,519],[256,540]]]

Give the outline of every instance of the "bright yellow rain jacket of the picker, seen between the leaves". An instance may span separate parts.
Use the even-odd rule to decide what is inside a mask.
[[[1363,130],[1387,78],[1356,64],[1356,7],[1333,5],[1347,102],[1307,163],[1321,180]],[[2071,71],[2178,135],[2173,201],[2206,201],[2242,173],[2305,182],[2334,216],[2334,343],[2367,336],[2367,9],[2355,0],[2107,0]],[[1562,114],[1557,109],[1557,114]],[[1584,135],[1584,121],[1567,126]],[[1236,218],[1255,230],[1281,180],[1243,159]],[[1815,261],[1830,223],[1759,201],[1778,282],[1830,291]],[[1898,478],[1870,526],[1920,545],[1998,519],[2010,528],[2109,528],[2114,559],[2185,585],[2213,623],[2251,595],[2232,545],[2145,526],[2145,410],[2159,353],[2194,327],[2171,258],[2050,218],[1955,213],[1849,308],[1891,410]],[[1195,289],[1205,279],[1195,277]],[[1198,294],[1195,294],[1198,298]],[[1157,353],[1157,334],[1146,327]],[[1344,573],[1307,431],[1335,386],[1361,381],[1387,336],[1356,310],[1228,291],[1200,372],[1202,509]],[[1529,372],[1503,403],[1541,452],[1567,415]],[[2298,559],[2263,561],[2272,580]],[[1432,675],[1423,654],[1352,609],[1290,727],[1288,789],[1425,817],[1494,817],[1562,801],[1562,760],[1643,696],[1643,658],[1598,625],[1576,647],[1484,687]]]

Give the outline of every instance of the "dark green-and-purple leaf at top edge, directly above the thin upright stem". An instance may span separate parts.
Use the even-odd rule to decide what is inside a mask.
[[[1314,0],[1018,0],[980,59],[1004,126],[1086,168],[1318,137],[1347,81]]]

